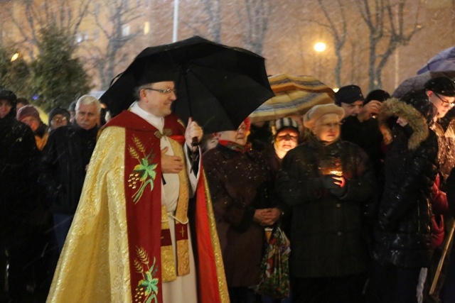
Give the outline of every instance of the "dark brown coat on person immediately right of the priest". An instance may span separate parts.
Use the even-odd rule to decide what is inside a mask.
[[[264,227],[253,222],[270,171],[256,150],[240,153],[218,144],[203,155],[228,287],[259,283]]]

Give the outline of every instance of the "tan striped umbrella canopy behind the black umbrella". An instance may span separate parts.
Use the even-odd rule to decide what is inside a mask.
[[[304,115],[316,104],[334,103],[333,89],[311,76],[274,75],[269,82],[275,97],[250,114],[252,123]]]

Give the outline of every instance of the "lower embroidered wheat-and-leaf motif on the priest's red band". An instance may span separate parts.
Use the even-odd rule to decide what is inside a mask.
[[[158,272],[158,266],[155,267],[156,258],[154,258],[154,264],[149,268],[149,256],[147,255],[144,248],[136,248],[136,253],[139,260],[134,259],[134,268],[143,277],[138,282],[136,287],[136,294],[134,296],[134,302],[158,302],[156,294],[158,294],[158,281],[156,272]]]

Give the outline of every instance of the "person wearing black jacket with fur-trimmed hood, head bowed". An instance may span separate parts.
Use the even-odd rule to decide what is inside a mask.
[[[369,302],[417,302],[421,268],[432,255],[432,185],[436,109],[424,92],[382,104],[378,122],[387,143],[385,184],[377,208]]]

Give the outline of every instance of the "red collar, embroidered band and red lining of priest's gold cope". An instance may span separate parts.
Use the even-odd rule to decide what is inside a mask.
[[[166,116],[164,128],[171,130],[173,140],[183,144],[185,128],[176,116]],[[155,136],[157,129],[130,111],[123,111],[111,119],[105,127],[125,128],[124,193],[126,197],[127,229],[129,243],[129,272],[132,301],[141,296],[139,302],[156,298],[163,302],[161,294],[161,148]],[[200,178],[196,189],[196,245],[199,262],[196,262],[198,277],[198,301],[201,303],[221,302],[219,275],[223,275],[221,264],[217,272],[213,238],[218,237],[208,220],[208,192],[205,177],[200,167]],[[215,221],[212,222],[215,224]],[[122,236],[122,235],[119,235]],[[195,239],[193,239],[195,240]],[[216,239],[218,242],[218,238]],[[194,241],[193,241],[194,242]],[[218,245],[219,246],[219,245]],[[196,256],[196,255],[195,255]],[[197,261],[197,260],[196,260]],[[222,279],[223,280],[223,279]],[[225,294],[227,295],[227,294]],[[225,300],[225,299],[224,299]]]

